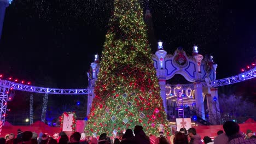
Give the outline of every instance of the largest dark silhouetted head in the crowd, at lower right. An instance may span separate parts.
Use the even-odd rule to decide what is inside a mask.
[[[239,125],[236,122],[227,121],[223,124],[223,129],[227,136],[233,136],[239,132]]]

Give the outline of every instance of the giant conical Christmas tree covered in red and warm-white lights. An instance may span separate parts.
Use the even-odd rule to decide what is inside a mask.
[[[142,125],[148,135],[168,134],[166,113],[138,0],[115,0],[102,52],[88,125],[108,133]]]

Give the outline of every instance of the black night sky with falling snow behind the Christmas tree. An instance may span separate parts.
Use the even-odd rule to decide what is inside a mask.
[[[182,46],[191,55],[192,47],[199,46],[203,56],[212,54],[218,64],[217,79],[239,74],[256,60],[253,1],[141,4],[152,13],[152,37],[162,40],[168,53]],[[86,88],[86,72],[94,55],[101,54],[112,9],[109,0],[14,0],[5,14],[0,73],[34,86]]]

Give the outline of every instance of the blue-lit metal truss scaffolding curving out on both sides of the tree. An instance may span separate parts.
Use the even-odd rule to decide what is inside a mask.
[[[242,73],[236,76],[231,76],[221,80],[216,80],[211,83],[202,82],[202,87],[219,87],[224,85],[230,85],[232,83],[253,79],[254,77],[256,77],[256,68],[246,71],[245,73]],[[176,85],[170,85],[170,86],[176,87]],[[193,88],[194,84],[191,83],[191,84],[185,84],[181,86],[184,88],[185,87]],[[45,87],[35,87],[30,85],[22,85],[20,83],[15,83],[15,82],[0,79],[0,111],[1,111],[0,117],[1,117],[1,121],[3,121],[3,124],[5,121],[5,115],[6,115],[7,105],[8,105],[9,88],[19,90],[19,91],[45,93],[45,94],[88,95],[94,92],[94,89],[90,89],[90,88],[85,88],[85,89],[45,88]]]

